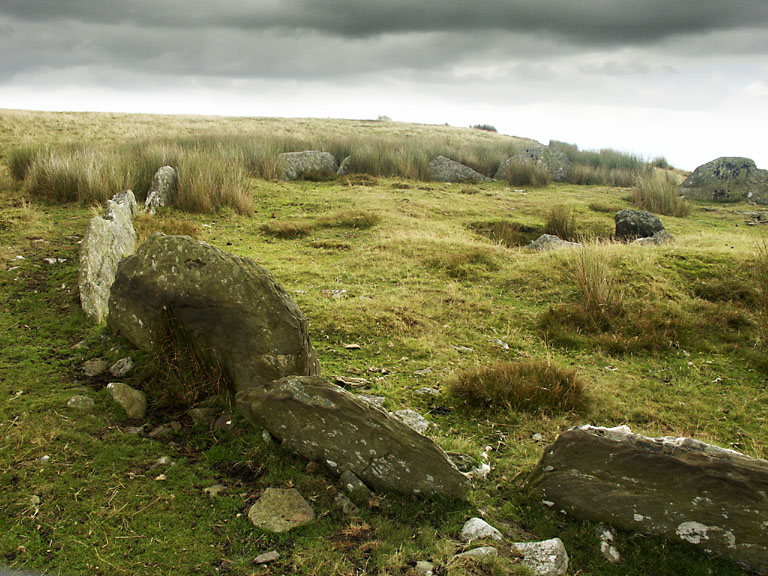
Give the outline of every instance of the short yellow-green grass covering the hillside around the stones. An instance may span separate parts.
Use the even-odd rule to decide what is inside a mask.
[[[697,204],[687,216],[662,216],[674,242],[641,247],[608,240],[615,211],[632,207],[629,188],[450,185],[418,172],[286,183],[244,172],[250,210],[141,217],[143,236],[190,234],[269,269],[307,316],[324,375],[366,378],[361,392],[384,396],[391,410],[419,411],[431,422],[427,434],[448,450],[479,461],[491,447],[492,471],[475,482],[469,504],[382,496],[344,514],[333,477],[318,466],[237,419],[231,431],[211,431],[162,402],[167,370],[80,310],[88,200],[39,193],[9,169],[23,147],[92,145],[118,158],[121,146],[169,138],[275,135],[319,144],[308,147],[408,141],[403,149],[453,146],[467,157],[493,150],[493,162],[525,144],[385,122],[0,112],[0,566],[73,575],[351,575],[409,574],[431,559],[442,574],[522,573],[509,561],[448,562],[461,549],[464,521],[483,515],[510,542],[559,536],[573,574],[742,573],[628,533],[616,544],[622,564],[608,564],[594,525],[530,500],[522,482],[559,431],[584,423],[693,436],[766,457],[768,252],[764,227],[745,223],[742,212],[753,207]],[[553,207],[568,215],[574,237],[586,238],[584,248],[523,247],[552,224]],[[591,284],[580,280],[590,269]],[[153,401],[147,423],[126,421],[104,390],[106,377],[80,369],[91,358],[124,356],[138,366],[123,381]],[[518,362],[575,371],[580,401],[459,394],[468,375]],[[424,387],[438,394],[419,394]],[[92,413],[67,408],[74,394],[96,400]],[[227,487],[222,495],[203,492],[218,483]],[[318,520],[280,536],[255,530],[250,505],[267,487],[287,486],[311,501]],[[280,560],[252,564],[269,550]]]

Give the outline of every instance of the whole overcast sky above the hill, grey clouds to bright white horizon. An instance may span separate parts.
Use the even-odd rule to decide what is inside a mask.
[[[1,0],[0,107],[376,118],[768,168],[765,0]]]

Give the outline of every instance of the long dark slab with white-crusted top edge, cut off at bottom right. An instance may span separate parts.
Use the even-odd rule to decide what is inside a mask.
[[[768,461],[690,438],[583,426],[546,449],[528,485],[554,510],[768,573]]]

